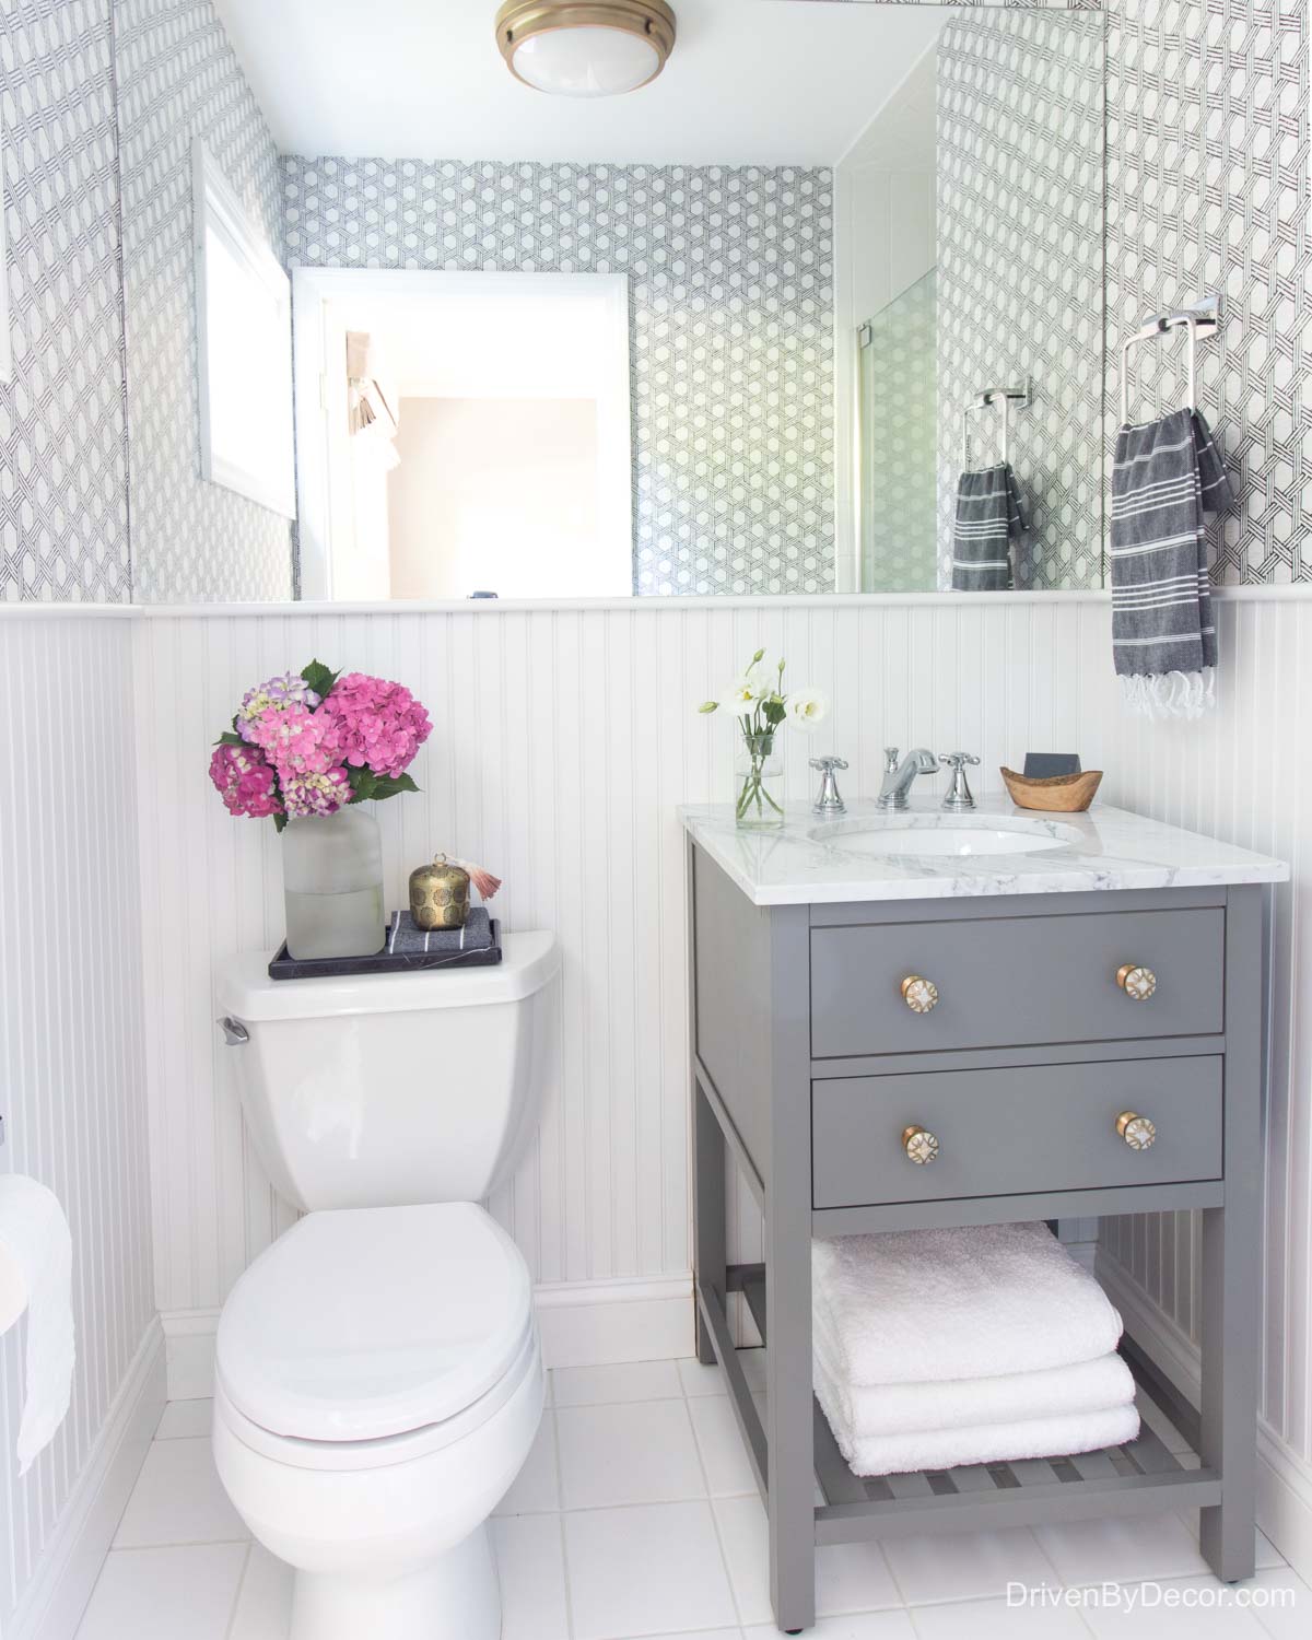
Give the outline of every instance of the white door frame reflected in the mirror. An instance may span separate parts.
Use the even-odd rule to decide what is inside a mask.
[[[333,481],[346,467],[346,326],[330,317],[330,305],[349,298],[495,295],[517,298],[541,294],[551,280],[561,292],[602,292],[607,298],[608,380],[597,403],[602,494],[599,526],[623,558],[625,589],[633,592],[633,428],[631,359],[628,338],[628,277],[625,274],[428,272],[418,269],[294,267],[292,326],[295,336],[297,495],[300,502],[300,595],[333,597]],[[341,503],[338,502],[338,508]],[[620,572],[617,571],[617,581]]]

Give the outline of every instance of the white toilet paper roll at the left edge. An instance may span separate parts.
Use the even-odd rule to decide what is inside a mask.
[[[21,1173],[0,1176],[0,1333],[28,1312],[18,1425],[25,1474],[64,1422],[72,1394],[72,1237],[57,1197]]]

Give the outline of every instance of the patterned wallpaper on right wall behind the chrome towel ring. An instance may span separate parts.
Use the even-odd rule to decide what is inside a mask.
[[[1214,572],[1312,581],[1307,0],[1112,0],[1109,13],[1109,417],[1120,335],[1220,290],[1199,397],[1241,500],[1214,526]],[[1179,402],[1182,354],[1179,341],[1135,351],[1132,413]]]

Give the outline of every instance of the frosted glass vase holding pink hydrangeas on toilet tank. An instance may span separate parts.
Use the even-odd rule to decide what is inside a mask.
[[[372,956],[387,938],[382,910],[382,836],[362,809],[289,820],[282,831],[287,954]]]

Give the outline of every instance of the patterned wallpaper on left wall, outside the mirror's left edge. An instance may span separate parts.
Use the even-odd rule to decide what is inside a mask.
[[[123,321],[108,0],[0,3],[13,380],[0,599],[126,604]]]

